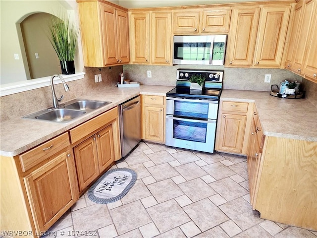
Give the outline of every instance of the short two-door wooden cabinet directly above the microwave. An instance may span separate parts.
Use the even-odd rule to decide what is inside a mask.
[[[173,33],[228,32],[231,7],[173,10]]]

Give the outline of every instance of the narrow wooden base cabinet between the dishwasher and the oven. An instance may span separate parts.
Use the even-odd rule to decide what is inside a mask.
[[[141,95],[142,139],[165,143],[164,96]]]

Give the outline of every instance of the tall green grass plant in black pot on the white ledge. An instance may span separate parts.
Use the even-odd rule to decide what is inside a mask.
[[[71,24],[69,17],[52,15],[49,23],[50,41],[60,61],[62,74],[74,74],[74,57],[79,29]]]

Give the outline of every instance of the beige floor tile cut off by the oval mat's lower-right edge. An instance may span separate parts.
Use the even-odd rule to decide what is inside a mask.
[[[122,204],[127,204],[148,196],[151,196],[149,189],[146,187],[142,179],[138,179],[130,191],[121,198],[121,202]]]

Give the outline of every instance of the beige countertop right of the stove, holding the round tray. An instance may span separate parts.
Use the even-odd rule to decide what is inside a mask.
[[[256,103],[264,135],[317,141],[317,108],[306,99],[277,98],[262,91],[224,89],[220,100]]]

